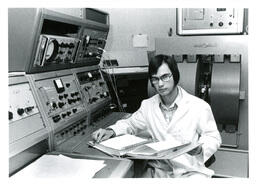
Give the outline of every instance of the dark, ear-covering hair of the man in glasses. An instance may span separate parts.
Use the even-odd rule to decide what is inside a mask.
[[[168,65],[169,69],[171,70],[172,75],[173,75],[174,84],[176,86],[180,80],[180,72],[179,72],[177,63],[173,57],[163,55],[163,54],[156,55],[149,60],[148,76],[149,76],[150,81],[151,81],[152,75],[157,73],[158,68],[163,63],[166,63]],[[153,86],[152,83],[151,83],[151,85]]]

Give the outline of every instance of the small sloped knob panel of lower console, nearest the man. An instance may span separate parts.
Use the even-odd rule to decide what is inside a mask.
[[[110,99],[109,90],[99,69],[76,73],[88,109]]]

